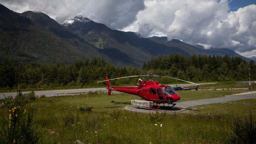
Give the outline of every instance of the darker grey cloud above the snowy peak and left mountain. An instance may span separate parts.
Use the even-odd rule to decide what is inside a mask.
[[[112,29],[127,27],[145,8],[143,0],[0,0],[0,3],[20,13],[42,11],[59,23],[82,14]]]

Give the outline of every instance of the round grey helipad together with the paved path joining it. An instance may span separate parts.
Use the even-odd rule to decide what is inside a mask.
[[[190,110],[190,109],[188,109],[188,107],[193,107],[193,106],[198,106],[198,105],[207,105],[207,104],[213,104],[213,103],[224,103],[224,102],[250,99],[250,98],[256,98],[256,91],[226,95],[224,97],[177,102],[176,105],[172,108],[168,107],[167,104],[165,104],[165,107],[163,107],[163,104],[161,104],[161,108],[158,110],[158,112],[159,113],[162,113],[162,112],[170,112],[170,113],[184,112],[185,110]],[[138,109],[137,106],[127,106],[127,107],[125,107],[125,109],[134,111],[134,112],[142,112],[142,113],[155,113],[156,112],[153,110]]]

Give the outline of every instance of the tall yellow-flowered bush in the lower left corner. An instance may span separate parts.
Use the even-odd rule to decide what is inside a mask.
[[[4,99],[4,104],[9,112],[6,119],[1,122],[1,143],[38,143],[40,137],[36,132],[33,118],[35,108],[25,108],[27,97],[18,91],[15,98],[9,96]]]

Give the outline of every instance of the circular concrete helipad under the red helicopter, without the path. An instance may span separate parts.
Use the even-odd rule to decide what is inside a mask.
[[[163,106],[163,105],[160,105],[161,107],[157,110],[159,113],[163,113],[163,112],[166,112],[166,113],[176,113],[176,112],[181,112],[182,110],[184,110],[185,108],[182,107],[182,106],[174,106],[174,107],[168,107],[168,106]],[[146,110],[146,109],[141,109],[138,108],[137,106],[127,106],[125,107],[125,110],[128,110],[128,111],[133,111],[133,112],[141,112],[141,113],[156,113],[156,111],[153,111],[153,110]]]

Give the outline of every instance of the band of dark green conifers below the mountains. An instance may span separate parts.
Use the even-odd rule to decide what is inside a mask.
[[[117,78],[130,75],[154,73],[188,81],[240,81],[248,80],[250,66],[251,78],[256,77],[254,61],[246,62],[240,57],[182,54],[158,56],[144,62],[141,68],[116,67],[103,58],[78,60],[74,64],[55,63],[54,65],[15,65],[10,59],[0,64],[1,88],[50,88],[102,86],[97,83],[104,76]],[[147,80],[147,79],[145,79]],[[161,83],[177,82],[173,79],[156,78]],[[135,84],[138,78],[125,78],[111,81],[111,84]]]

